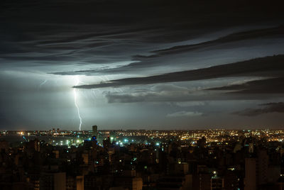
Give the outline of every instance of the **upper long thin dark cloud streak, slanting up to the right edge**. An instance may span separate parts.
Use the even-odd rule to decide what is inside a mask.
[[[133,62],[129,65],[124,65],[117,68],[105,68],[105,69],[89,69],[89,70],[80,70],[80,71],[70,71],[70,72],[53,72],[52,74],[61,74],[61,75],[96,75],[96,74],[114,74],[114,73],[121,73],[121,72],[129,72],[133,69],[141,69],[141,68],[148,68],[148,67],[158,67],[159,65],[165,66],[163,60],[156,60],[158,57],[169,57],[171,55],[191,52],[195,50],[202,50],[206,51],[211,48],[212,50],[216,50],[218,48],[222,49],[224,47],[218,47],[219,45],[226,45],[226,43],[233,43],[236,41],[243,41],[243,40],[252,40],[255,38],[283,38],[284,37],[284,26],[279,26],[275,28],[264,28],[258,30],[248,30],[241,33],[233,33],[230,35],[226,35],[222,38],[218,38],[216,40],[206,41],[204,43],[197,43],[193,45],[180,45],[175,47],[170,47],[164,50],[155,50],[151,53],[153,55],[134,55],[132,56]],[[232,45],[231,47],[238,47],[240,45]],[[154,61],[151,59],[155,58]],[[190,61],[190,59],[189,59]]]

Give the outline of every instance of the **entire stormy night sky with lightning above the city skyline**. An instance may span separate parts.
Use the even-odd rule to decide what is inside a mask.
[[[0,24],[0,130],[284,127],[281,1],[2,0]]]

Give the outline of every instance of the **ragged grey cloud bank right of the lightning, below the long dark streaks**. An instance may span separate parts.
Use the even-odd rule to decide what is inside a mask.
[[[212,84],[209,83],[209,86]],[[138,103],[138,102],[170,102],[171,105],[189,106],[200,105],[200,101],[231,101],[231,100],[266,100],[282,97],[282,94],[241,94],[227,93],[226,91],[209,91],[206,86],[187,88],[174,84],[157,84],[146,86],[145,90],[126,90],[126,92],[105,91],[105,97],[109,104],[114,103]],[[190,104],[188,103],[190,102]],[[173,104],[172,104],[173,103]],[[180,103],[180,104],[175,104]]]

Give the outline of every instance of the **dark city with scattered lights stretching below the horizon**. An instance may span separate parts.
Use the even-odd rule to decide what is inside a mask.
[[[91,129],[91,128],[90,128]],[[2,189],[283,189],[283,130],[0,132]]]

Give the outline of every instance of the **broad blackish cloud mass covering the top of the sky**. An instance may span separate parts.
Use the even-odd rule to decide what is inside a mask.
[[[20,65],[18,62],[21,60],[32,60],[33,65],[67,65],[70,62],[71,65],[94,66],[114,60],[129,60],[133,55],[153,50],[151,46],[159,48],[160,43],[191,40],[230,27],[249,26],[251,23],[257,25],[259,21],[273,26],[282,18],[277,11],[277,4],[271,3],[263,9],[266,1],[258,1],[258,4],[246,2],[242,17],[234,11],[239,10],[241,3],[229,4],[226,1],[180,1],[179,4],[173,1],[1,3],[0,56],[9,65]],[[241,37],[229,38],[244,40],[255,38],[253,35],[271,38],[279,36],[280,30],[281,28],[256,30],[241,33]],[[173,47],[175,48],[181,47]],[[156,53],[163,54],[163,51],[169,50]],[[137,58],[134,56],[132,60]],[[133,71],[132,68],[163,64],[133,62],[127,67],[106,69],[106,72],[130,72]],[[96,72],[98,71],[84,70],[74,74],[89,75]],[[58,74],[72,74],[72,69],[71,72]]]

